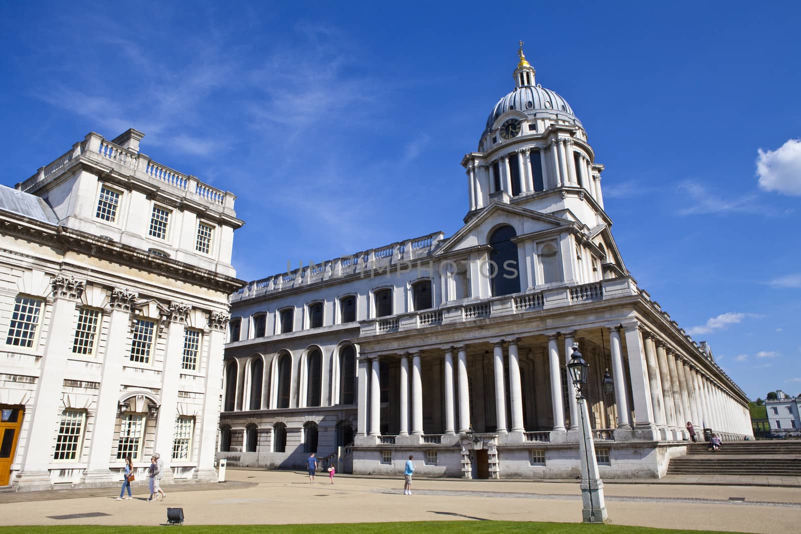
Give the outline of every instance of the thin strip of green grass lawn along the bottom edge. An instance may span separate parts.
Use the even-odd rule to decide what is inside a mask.
[[[46,529],[46,530],[45,530]],[[698,534],[710,532],[700,530],[671,530],[668,528],[627,527],[612,524],[581,523],[533,523],[523,521],[409,521],[408,523],[358,523],[358,524],[272,524],[272,525],[219,525],[181,527],[90,527],[90,526],[56,526],[56,527],[0,527],[0,534],[99,534],[99,532],[131,532],[151,534],[152,532],[170,531],[174,534],[206,534],[223,532],[250,533],[268,532],[275,534],[320,534],[332,532],[336,534],[425,534],[426,532],[448,532],[448,534],[496,534],[498,532],[537,532],[537,534],[682,534],[683,532]],[[717,534],[720,534],[718,532]]]

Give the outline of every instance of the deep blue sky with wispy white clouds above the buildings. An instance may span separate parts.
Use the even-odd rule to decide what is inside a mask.
[[[3,2],[2,183],[91,130],[238,195],[243,279],[445,231],[517,41],[606,165],[641,287],[801,393],[798,2]]]

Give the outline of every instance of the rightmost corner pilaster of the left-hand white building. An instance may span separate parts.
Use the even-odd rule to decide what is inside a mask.
[[[217,472],[214,468],[217,432],[219,430],[219,399],[222,392],[223,355],[225,353],[225,333],[229,315],[211,311],[208,320],[208,354],[206,356],[206,383],[203,391],[203,419],[200,420],[200,450],[195,479],[214,481]],[[195,425],[197,425],[195,421]]]

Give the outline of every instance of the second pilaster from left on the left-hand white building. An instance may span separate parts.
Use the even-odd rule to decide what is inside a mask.
[[[131,331],[131,307],[136,296],[135,293],[126,289],[111,290],[111,299],[108,304],[111,311],[108,342],[103,358],[103,371],[101,371],[98,409],[95,414],[95,424],[92,426],[95,432],[92,432],[87,469],[83,472],[81,479],[83,484],[102,484],[111,480],[108,463],[114,432],[110,430],[115,428],[119,409],[123,363],[129,358],[129,353],[125,348],[128,333]]]

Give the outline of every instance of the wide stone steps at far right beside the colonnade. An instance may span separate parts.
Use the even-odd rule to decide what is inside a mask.
[[[670,460],[668,475],[801,476],[801,440],[728,441],[718,452],[690,444]]]

